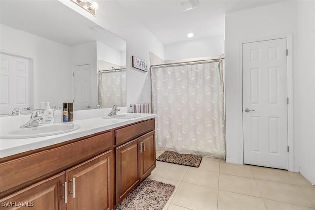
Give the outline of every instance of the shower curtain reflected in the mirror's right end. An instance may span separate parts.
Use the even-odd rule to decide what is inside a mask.
[[[126,106],[126,69],[100,71],[98,74],[101,107]]]

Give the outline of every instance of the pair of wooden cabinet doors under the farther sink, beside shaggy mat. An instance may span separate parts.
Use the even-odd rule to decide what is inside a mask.
[[[116,201],[119,204],[156,166],[155,132],[116,148]]]

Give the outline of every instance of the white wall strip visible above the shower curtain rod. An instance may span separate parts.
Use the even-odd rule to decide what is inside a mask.
[[[221,55],[224,52],[224,37],[213,36],[165,45],[165,60],[190,59]]]

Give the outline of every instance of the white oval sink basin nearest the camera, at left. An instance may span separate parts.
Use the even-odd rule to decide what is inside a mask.
[[[25,139],[42,136],[51,136],[77,130],[80,128],[78,124],[52,124],[42,125],[38,127],[19,128],[11,131],[1,131],[1,139]]]

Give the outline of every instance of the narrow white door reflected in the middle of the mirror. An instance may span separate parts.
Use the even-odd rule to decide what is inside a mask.
[[[73,67],[74,110],[90,109],[90,64]]]

